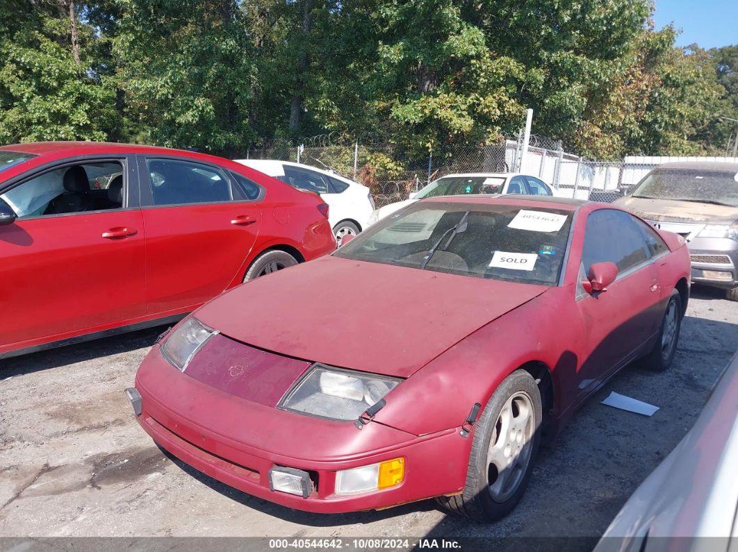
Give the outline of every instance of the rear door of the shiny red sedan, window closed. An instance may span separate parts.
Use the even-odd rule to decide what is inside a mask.
[[[147,310],[187,312],[243,277],[263,189],[252,183],[249,197],[232,173],[193,158],[139,156],[139,171]]]

